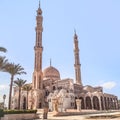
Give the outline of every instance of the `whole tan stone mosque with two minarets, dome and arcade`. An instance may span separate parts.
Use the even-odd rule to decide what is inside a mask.
[[[43,107],[44,100],[49,102],[49,110],[53,110],[52,99],[58,99],[58,109],[76,109],[76,99],[81,99],[81,109],[109,110],[118,109],[118,98],[113,94],[103,92],[101,86],[92,87],[83,85],[81,80],[81,64],[79,59],[78,36],[74,33],[74,69],[75,78],[61,79],[60,72],[51,64],[42,70],[42,32],[43,16],[40,5],[36,16],[36,41],[34,46],[35,60],[32,90],[21,92],[21,109],[39,109]],[[69,76],[68,76],[69,77]],[[74,83],[75,81],[75,83]],[[28,99],[27,99],[28,98]],[[18,88],[14,88],[12,109],[18,108]]]

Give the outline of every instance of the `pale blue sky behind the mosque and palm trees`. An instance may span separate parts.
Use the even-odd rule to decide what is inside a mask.
[[[20,63],[32,81],[38,0],[0,1],[0,46],[9,61]],[[120,98],[120,1],[41,0],[43,69],[56,67],[61,78],[74,79],[73,35],[79,37],[83,85],[103,86]],[[8,96],[10,75],[0,73],[0,101]]]

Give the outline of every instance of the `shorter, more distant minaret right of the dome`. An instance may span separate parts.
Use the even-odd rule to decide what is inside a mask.
[[[76,77],[76,84],[82,85],[81,80],[81,69],[80,69],[80,60],[79,60],[79,47],[78,47],[78,36],[75,32],[74,34],[74,56],[75,56],[75,77]]]

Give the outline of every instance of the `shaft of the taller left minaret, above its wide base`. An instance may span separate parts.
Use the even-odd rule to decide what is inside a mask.
[[[40,2],[39,2],[39,8],[37,10],[37,16],[36,16],[36,43],[35,43],[35,63],[34,63],[34,72],[33,72],[33,89],[42,89],[42,10],[40,8]]]

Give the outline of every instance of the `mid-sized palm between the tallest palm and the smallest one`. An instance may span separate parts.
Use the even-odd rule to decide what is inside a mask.
[[[17,80],[14,81],[14,84],[18,87],[19,92],[18,92],[18,109],[20,109],[20,100],[21,100],[21,88],[23,87],[23,85],[26,83],[26,80],[23,79],[19,79],[17,78]]]

